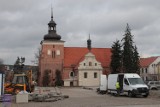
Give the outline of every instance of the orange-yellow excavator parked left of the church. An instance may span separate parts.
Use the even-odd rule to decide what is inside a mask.
[[[5,93],[18,94],[20,91],[33,92],[34,84],[32,84],[32,70],[22,74],[14,74],[12,82],[5,85]]]

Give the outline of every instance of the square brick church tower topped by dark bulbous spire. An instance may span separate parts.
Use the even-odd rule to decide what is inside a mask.
[[[54,85],[55,72],[63,70],[64,41],[56,32],[56,23],[53,20],[53,9],[51,8],[51,21],[48,23],[48,34],[44,35],[41,41],[41,55],[39,58],[39,79],[38,85],[43,86],[43,77],[46,72],[49,74],[50,83]]]

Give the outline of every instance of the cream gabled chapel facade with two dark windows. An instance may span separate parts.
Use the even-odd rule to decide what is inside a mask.
[[[101,63],[91,52],[85,55],[85,59],[80,62],[78,67],[79,86],[99,86],[100,75],[102,74]]]

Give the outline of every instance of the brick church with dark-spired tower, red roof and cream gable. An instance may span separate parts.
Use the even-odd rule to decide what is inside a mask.
[[[41,41],[38,85],[43,86],[45,72],[49,72],[48,84],[54,86],[59,71],[64,86],[99,86],[100,75],[110,73],[111,48],[92,48],[90,37],[86,47],[65,47],[51,13],[48,34]]]

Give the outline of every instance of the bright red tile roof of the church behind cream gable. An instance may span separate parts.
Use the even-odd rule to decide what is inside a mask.
[[[78,66],[88,52],[85,47],[64,47],[64,67],[71,67],[72,64]],[[92,48],[91,52],[102,67],[109,67],[111,48]]]

